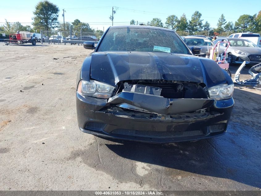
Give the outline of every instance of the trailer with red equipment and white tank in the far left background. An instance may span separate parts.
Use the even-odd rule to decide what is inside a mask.
[[[26,44],[32,43],[32,45],[36,45],[36,39],[31,37],[29,31],[21,31],[14,34],[9,35],[9,39],[5,39],[5,44]]]

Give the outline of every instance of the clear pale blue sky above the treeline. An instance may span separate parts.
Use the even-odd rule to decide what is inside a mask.
[[[184,13],[190,20],[195,11],[202,14],[203,24],[208,21],[211,27],[217,27],[217,20],[224,14],[226,21],[233,23],[240,15],[258,14],[261,10],[261,0],[237,0],[237,1],[195,1],[195,0],[49,0],[59,9],[59,21],[63,22],[62,9],[65,10],[65,22],[73,22],[79,19],[89,23],[91,28],[106,30],[112,25],[109,17],[112,15],[112,7],[116,9],[114,25],[129,24],[130,20],[147,23],[153,18],[160,18],[163,24],[169,15],[178,18]],[[12,0],[1,1],[0,25],[8,22],[19,21],[23,25],[31,25],[33,11],[38,1]],[[10,5],[12,4],[12,6]],[[28,6],[29,5],[29,6]]]

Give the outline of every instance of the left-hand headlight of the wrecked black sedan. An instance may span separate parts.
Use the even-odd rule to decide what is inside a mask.
[[[90,80],[90,82],[88,82],[81,80],[79,82],[77,92],[79,94],[86,95],[89,97],[107,99],[111,97],[114,89],[114,86],[110,86],[102,82],[94,80]]]

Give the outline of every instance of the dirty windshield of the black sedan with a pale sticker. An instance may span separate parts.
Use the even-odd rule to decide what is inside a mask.
[[[158,29],[109,29],[97,51],[144,51],[191,54],[176,33]]]

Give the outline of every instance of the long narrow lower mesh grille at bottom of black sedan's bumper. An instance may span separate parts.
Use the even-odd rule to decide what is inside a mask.
[[[130,129],[115,129],[112,133],[159,138],[159,137],[181,137],[181,136],[201,135],[202,131],[159,132],[159,131],[136,131]]]

